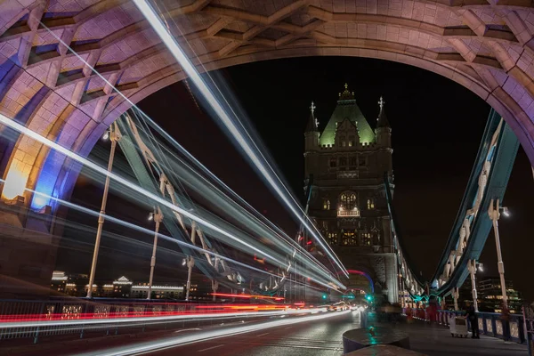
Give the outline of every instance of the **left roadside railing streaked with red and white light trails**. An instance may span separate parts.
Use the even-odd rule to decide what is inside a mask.
[[[103,332],[117,334],[118,328],[145,328],[171,322],[195,322],[198,325],[213,320],[264,318],[281,312],[282,305],[250,303],[165,303],[160,300],[78,299],[49,301],[0,301],[0,341],[14,338]]]

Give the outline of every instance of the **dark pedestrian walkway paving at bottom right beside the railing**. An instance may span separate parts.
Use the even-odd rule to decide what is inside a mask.
[[[424,321],[414,321],[411,324],[386,324],[375,322],[369,318],[368,327],[376,325],[396,328],[409,334],[410,349],[429,356],[527,356],[526,344],[505,344],[496,337],[483,336],[480,339],[452,337],[449,328],[439,325],[429,325]]]

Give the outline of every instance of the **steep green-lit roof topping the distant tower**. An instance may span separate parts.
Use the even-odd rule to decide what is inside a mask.
[[[325,130],[320,135],[320,145],[334,145],[336,139],[336,124],[341,123],[345,118],[348,118],[352,123],[356,124],[360,134],[360,143],[375,142],[376,137],[369,126],[368,121],[361,113],[360,108],[356,105],[354,93],[350,93],[345,84],[344,93],[339,94],[336,109],[332,113]]]

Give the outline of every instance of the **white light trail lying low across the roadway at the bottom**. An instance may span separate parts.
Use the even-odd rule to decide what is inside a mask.
[[[266,328],[278,328],[287,325],[294,325],[303,322],[312,322],[317,320],[325,320],[334,318],[340,315],[349,314],[351,311],[345,312],[328,312],[320,315],[312,315],[300,317],[295,319],[273,320],[263,322],[257,325],[247,325],[234,328],[224,328],[222,330],[209,330],[199,332],[190,336],[173,336],[164,341],[152,341],[149,343],[140,343],[133,346],[116,347],[109,351],[100,350],[98,352],[86,352],[78,355],[81,356],[125,356],[125,355],[141,355],[149,352],[162,351],[168,348],[174,348],[185,344],[195,344],[207,340],[214,340],[226,336],[235,336],[239,334],[251,333]]]

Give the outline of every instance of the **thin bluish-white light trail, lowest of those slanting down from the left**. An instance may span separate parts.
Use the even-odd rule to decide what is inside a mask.
[[[0,121],[1,121],[1,119],[2,119],[2,115],[0,114]],[[0,182],[5,182],[5,181],[0,179]],[[36,194],[36,195],[39,195],[39,196],[44,197],[44,198],[50,198],[50,199],[58,202],[59,204],[61,204],[63,206],[67,206],[69,208],[76,209],[76,210],[78,210],[78,211],[80,211],[82,213],[90,214],[90,215],[93,215],[93,216],[96,216],[96,217],[100,216],[100,213],[95,211],[95,210],[91,210],[91,209],[89,209],[87,207],[84,207],[84,206],[78,206],[76,204],[70,203],[67,200],[63,200],[61,198],[56,198],[56,197],[53,197],[53,196],[38,192],[36,190],[31,190],[29,188],[26,188],[25,190],[28,190],[29,192],[31,192],[33,194]],[[146,234],[148,234],[150,236],[154,234],[154,231],[151,231],[149,229],[143,228],[143,227],[141,227],[139,225],[135,225],[134,223],[125,222],[123,220],[117,219],[116,217],[113,217],[113,216],[110,216],[110,215],[106,215],[106,220],[108,220],[110,223],[117,223],[117,224],[119,224],[121,226],[124,226],[126,228],[146,233]],[[181,245],[183,247],[191,248],[191,249],[196,250],[196,251],[198,251],[200,253],[207,253],[208,255],[212,255],[214,257],[221,258],[224,261],[227,261],[227,262],[230,262],[230,263],[235,263],[236,265],[239,265],[241,267],[247,268],[247,269],[252,270],[252,271],[256,271],[256,272],[260,272],[260,273],[263,273],[263,274],[267,274],[267,275],[270,275],[272,277],[277,277],[277,278],[279,277],[279,275],[277,275],[277,274],[274,274],[274,273],[271,273],[269,271],[264,271],[264,270],[255,268],[255,267],[253,267],[251,265],[248,265],[247,263],[241,263],[239,261],[233,260],[233,259],[231,259],[229,257],[224,256],[224,255],[219,255],[219,254],[214,253],[213,251],[206,250],[206,249],[204,249],[202,247],[197,247],[195,245],[190,245],[187,242],[180,241],[178,239],[174,239],[174,238],[172,238],[170,236],[166,236],[165,234],[162,234],[161,232],[158,233],[158,237],[161,238],[161,239],[166,239],[168,241],[174,242],[177,245]],[[305,276],[303,274],[300,274],[300,275],[303,276],[303,277],[306,277],[306,278],[310,278],[309,276]],[[316,279],[316,278],[313,278],[312,280],[314,282],[320,284],[323,287],[330,287],[328,285],[328,282],[323,282],[323,281],[321,281],[319,279]],[[299,285],[303,285],[303,283],[301,283],[301,282],[295,282],[295,283],[297,283]],[[312,286],[307,285],[307,287],[312,287]],[[315,288],[315,287],[312,287],[312,288],[318,289],[318,288]]]

